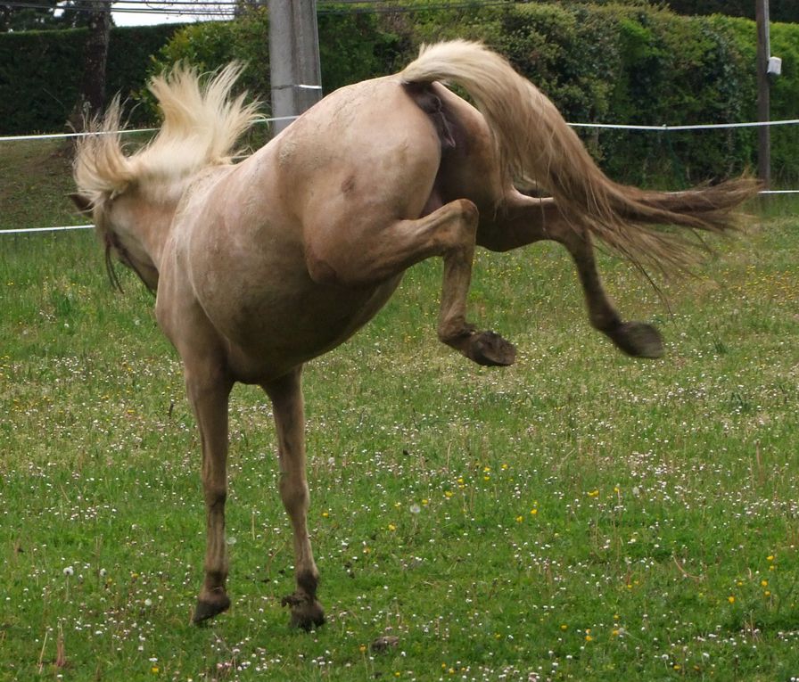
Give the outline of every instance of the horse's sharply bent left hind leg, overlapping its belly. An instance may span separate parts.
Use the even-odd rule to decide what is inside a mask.
[[[318,282],[367,287],[395,278],[432,256],[444,261],[438,336],[479,365],[506,366],[515,348],[493,332],[478,332],[466,322],[466,296],[478,212],[465,199],[451,201],[417,220],[396,220],[374,229],[374,221],[313,235],[307,244],[309,272]],[[348,218],[351,219],[351,218]]]

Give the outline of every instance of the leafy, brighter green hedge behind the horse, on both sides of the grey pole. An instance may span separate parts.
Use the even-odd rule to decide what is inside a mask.
[[[721,15],[680,16],[646,0],[472,4],[459,9],[434,5],[404,0],[392,4],[399,10],[391,12],[351,12],[350,6],[325,5],[318,17],[325,92],[399,70],[421,43],[465,37],[483,40],[507,55],[568,120],[657,126],[755,119],[753,21]],[[46,37],[53,36],[48,32]],[[43,41],[35,47],[37,51],[60,49],[63,54],[56,54],[54,60],[74,62],[74,56],[65,56],[76,53],[74,45],[69,49],[55,43],[45,46],[44,38],[35,38]],[[773,24],[771,44],[772,53],[783,60],[783,75],[772,87],[772,118],[799,118],[799,25]],[[4,37],[0,37],[0,63],[5,63],[4,49]],[[251,12],[237,21],[185,26],[153,52],[151,72],[178,59],[204,70],[231,59],[242,60],[248,65],[243,87],[268,102],[265,12]],[[132,59],[128,48],[112,47],[111,55],[136,62],[136,69],[148,64],[143,58]],[[34,71],[21,69],[26,74],[21,82],[33,78]],[[72,101],[66,84],[58,80],[60,71],[47,71],[55,80],[46,88],[28,87],[57,92],[57,97],[45,95],[51,108],[53,102]],[[42,78],[37,78],[41,83]],[[136,85],[144,80],[141,71],[127,78],[110,82],[134,92],[137,116],[154,116],[144,88]],[[3,83],[0,74],[0,95]],[[28,95],[30,101],[33,94]],[[9,99],[0,97],[0,106]],[[39,100],[37,107],[45,103]],[[54,118],[56,127],[69,108],[62,107],[61,118]],[[7,127],[7,121],[2,125]],[[595,129],[581,130],[581,135],[611,176],[629,182],[679,188],[756,165],[753,128],[655,134]],[[772,128],[772,172],[779,182],[799,181],[797,150],[799,127]]]

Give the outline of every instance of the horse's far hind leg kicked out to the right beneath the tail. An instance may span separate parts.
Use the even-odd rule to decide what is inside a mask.
[[[544,239],[563,244],[572,256],[585,296],[589,321],[595,329],[630,356],[663,355],[663,340],[653,325],[622,321],[599,277],[588,230],[570,225],[554,200],[510,193],[500,204],[494,218],[481,223],[477,234],[477,243],[491,251],[509,251]]]

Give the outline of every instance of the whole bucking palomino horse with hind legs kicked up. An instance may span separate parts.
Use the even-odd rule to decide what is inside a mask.
[[[399,74],[343,87],[240,163],[230,156],[257,119],[229,96],[238,69],[202,85],[178,67],[152,80],[164,114],[152,143],[126,155],[119,101],[78,146],[81,210],[111,254],[157,292],[158,323],[185,367],[202,436],[205,577],[194,621],[224,612],[227,404],[234,382],[274,406],[280,496],[293,531],[292,623],[324,620],[306,514],[301,369],[375,313],[403,272],[444,263],[438,336],[481,365],[514,347],[466,322],[475,244],[506,251],[542,239],[577,266],[593,326],[632,356],[663,352],[651,325],[622,322],[605,294],[592,236],[638,267],[684,266],[690,245],[647,224],[721,232],[753,193],[746,179],[683,193],[617,185],[555,106],[500,56],[454,41],[423,49]],[[441,81],[462,86],[477,108]],[[515,185],[551,194],[531,198]],[[690,234],[686,232],[683,234]]]

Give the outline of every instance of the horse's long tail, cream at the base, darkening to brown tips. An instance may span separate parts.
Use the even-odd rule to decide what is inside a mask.
[[[645,225],[724,232],[733,223],[733,210],[759,186],[743,177],[663,193],[615,183],[555,105],[503,57],[477,43],[423,47],[399,75],[407,82],[438,80],[464,87],[488,122],[507,183],[540,185],[575,226],[587,226],[638,267],[682,268],[695,259],[693,242]]]

